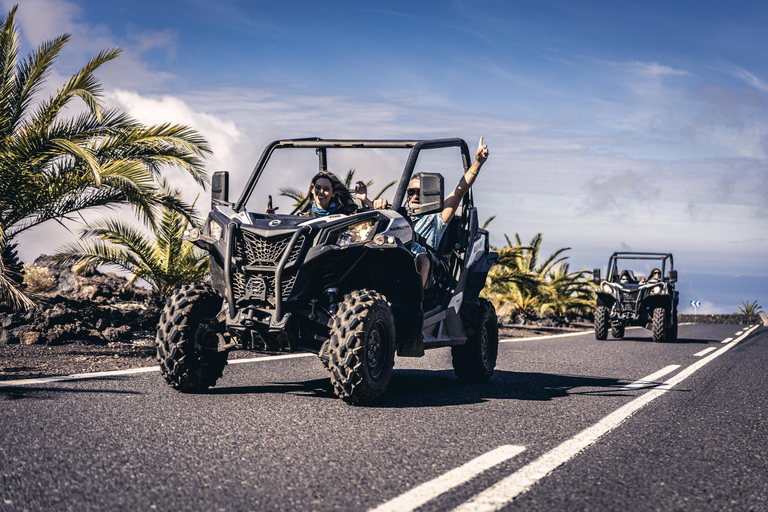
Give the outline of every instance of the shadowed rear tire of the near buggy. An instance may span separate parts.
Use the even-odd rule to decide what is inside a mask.
[[[453,371],[464,382],[488,382],[499,354],[499,326],[496,309],[480,299],[472,336],[464,345],[451,347]]]

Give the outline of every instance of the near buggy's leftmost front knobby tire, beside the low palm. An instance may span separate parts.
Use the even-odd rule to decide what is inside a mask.
[[[157,325],[160,372],[174,389],[195,393],[216,384],[227,364],[218,352],[214,317],[222,298],[208,284],[184,285],[165,304]]]

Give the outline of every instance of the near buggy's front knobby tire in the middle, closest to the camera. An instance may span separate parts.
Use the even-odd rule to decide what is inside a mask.
[[[329,346],[336,396],[363,405],[384,395],[395,365],[395,318],[387,299],[372,290],[344,296],[334,315]]]

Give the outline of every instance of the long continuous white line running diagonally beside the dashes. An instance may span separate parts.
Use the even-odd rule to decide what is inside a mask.
[[[757,326],[755,326],[755,329],[756,328]],[[736,338],[730,344],[722,347],[710,356],[695,362],[666,381],[663,386],[654,388],[635,398],[628,404],[618,408],[593,426],[583,430],[576,436],[557,446],[555,449],[545,453],[497,484],[489,487],[480,494],[477,494],[471,500],[459,505],[453,512],[495,512],[501,510],[517,496],[530,489],[533,484],[578,455],[581,451],[595,443],[600,437],[618,427],[624,420],[632,416],[638,410],[693,375],[697,370],[710,361],[723,355],[751,334],[753,330],[754,329],[747,330],[742,336]]]

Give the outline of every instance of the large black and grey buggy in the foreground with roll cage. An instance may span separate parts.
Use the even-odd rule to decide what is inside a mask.
[[[350,148],[407,155],[392,209],[308,218],[296,215],[298,207],[289,215],[266,214],[255,211],[258,201],[249,203],[276,154],[311,150],[314,174],[327,170],[329,154]],[[498,327],[493,305],[479,293],[498,255],[478,227],[472,191],[433,251],[446,275],[427,290],[411,253],[416,235],[409,216],[442,211],[442,175],[421,174],[420,206],[401,206],[420,158],[446,148],[460,154],[452,164],[457,171],[466,171],[472,160],[462,139],[275,141],[235,202],[228,173],[215,173],[211,212],[185,236],[209,253],[211,281],[176,290],[165,305],[156,340],[165,380],[199,392],[215,385],[231,350],[312,351],[330,371],[335,393],[363,404],[384,394],[395,353],[420,357],[450,346],[461,380],[487,381]]]

